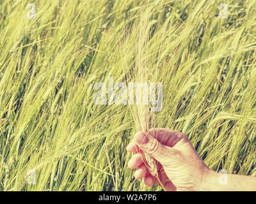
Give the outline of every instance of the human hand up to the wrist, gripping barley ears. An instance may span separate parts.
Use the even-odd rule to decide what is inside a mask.
[[[204,175],[210,171],[188,137],[170,129],[151,129],[148,135],[136,133],[127,151],[136,152],[128,167],[137,168],[134,177],[144,178],[145,186],[159,185],[159,182],[143,163],[142,152],[156,159],[158,177],[166,191],[200,191]]]

